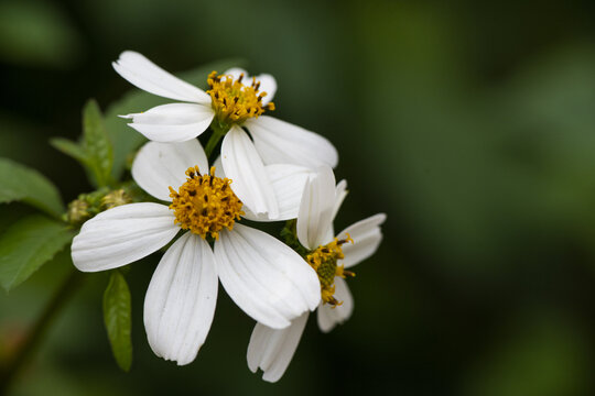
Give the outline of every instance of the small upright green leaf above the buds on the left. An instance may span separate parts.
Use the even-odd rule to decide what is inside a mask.
[[[97,101],[90,99],[83,109],[83,151],[86,165],[98,187],[109,184],[113,152],[109,141],[104,118]]]

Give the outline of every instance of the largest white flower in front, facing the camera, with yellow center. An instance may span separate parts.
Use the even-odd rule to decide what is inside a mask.
[[[309,176],[294,172],[293,177],[283,177],[295,170],[291,168],[272,165],[266,170],[280,200],[299,209],[283,195],[301,195]],[[271,328],[288,327],[316,308],[315,272],[273,237],[236,223],[250,208],[235,191],[235,180],[209,169],[197,140],[147,143],[134,160],[132,176],[147,193],[170,205],[128,204],[99,213],[75,237],[72,257],[84,272],[117,268],[185,231],[161,258],[144,299],[144,327],[156,355],[180,365],[196,358],[213,321],[217,279],[246,314]],[[286,216],[298,211],[281,210]]]

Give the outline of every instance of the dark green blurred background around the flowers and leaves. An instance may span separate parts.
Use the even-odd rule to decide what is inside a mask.
[[[105,109],[132,89],[110,66],[123,50],[171,72],[240,57],[273,74],[275,117],[340,153],[350,194],[337,229],[383,211],[385,241],[356,267],[353,318],[329,334],[311,319],[278,384],[248,371],[253,323],[223,290],[194,363],[153,355],[153,255],[127,275],[131,372],[111,358],[97,274],[14,395],[595,394],[592,1],[2,0],[0,156],[40,169],[66,201],[89,191],[47,141],[78,136],[88,98]],[[0,356],[67,258],[0,296]]]

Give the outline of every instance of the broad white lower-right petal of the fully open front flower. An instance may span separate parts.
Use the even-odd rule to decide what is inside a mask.
[[[236,224],[215,242],[217,273],[231,299],[250,317],[282,329],[316,308],[316,273],[291,248],[259,230]]]

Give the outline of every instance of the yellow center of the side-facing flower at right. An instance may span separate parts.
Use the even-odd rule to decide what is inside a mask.
[[[306,256],[306,261],[316,271],[318,280],[321,282],[321,295],[324,304],[331,304],[334,307],[342,305],[335,297],[335,276],[345,278],[346,276],[355,276],[355,273],[346,271],[344,265],[337,265],[338,260],[345,258],[342,245],[347,242],[354,242],[351,237],[347,234],[347,239],[334,239],[333,242],[318,246],[315,251]]]

